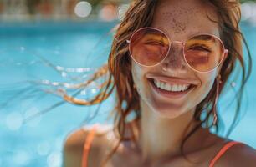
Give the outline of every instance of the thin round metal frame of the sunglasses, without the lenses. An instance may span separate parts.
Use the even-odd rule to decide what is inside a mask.
[[[163,33],[163,34],[166,36],[166,38],[167,38],[167,40],[168,40],[168,42],[169,42],[169,48],[168,48],[168,51],[167,51],[167,53],[166,53],[166,55],[165,55],[165,58],[162,58],[162,60],[161,60],[159,63],[156,63],[155,65],[149,65],[149,66],[148,66],[148,65],[141,64],[141,63],[137,62],[136,59],[133,58],[133,56],[132,56],[132,54],[131,54],[131,39],[133,38],[133,36],[134,36],[137,32],[141,31],[142,29],[154,29],[154,30],[156,30],[156,31],[159,31],[159,32]],[[194,37],[197,37],[197,36],[199,36],[199,35],[209,35],[209,36],[212,36],[213,38],[217,38],[218,41],[219,41],[219,42],[222,44],[222,46],[223,46],[223,55],[222,55],[221,61],[218,63],[218,65],[217,65],[215,68],[212,68],[212,69],[209,70],[209,71],[198,71],[197,69],[192,68],[192,66],[189,65],[189,63],[187,63],[187,59],[185,58],[185,43],[186,43],[187,41],[186,41],[186,42],[182,42],[182,41],[171,41],[170,38],[167,36],[167,34],[166,34],[164,31],[162,31],[161,29],[159,29],[159,28],[152,28],[152,27],[139,28],[139,29],[137,29],[134,33],[132,33],[130,40],[126,40],[126,43],[129,44],[129,53],[130,53],[130,55],[131,55],[131,58],[132,58],[136,63],[140,64],[140,65],[143,66],[143,67],[155,67],[156,65],[162,63],[163,61],[165,61],[167,55],[169,54],[170,49],[171,49],[171,47],[172,47],[172,43],[182,43],[183,58],[184,58],[185,62],[187,63],[187,66],[188,66],[189,68],[192,68],[192,70],[196,71],[197,73],[209,73],[209,72],[212,72],[214,69],[218,68],[218,66],[223,62],[223,59],[224,59],[224,57],[225,57],[225,54],[228,53],[228,49],[225,48],[225,46],[224,46],[224,44],[223,44],[223,41],[222,41],[220,38],[218,38],[216,35],[213,35],[213,34],[210,34],[210,33],[197,33],[197,34],[192,35],[192,36],[191,36],[190,38],[188,38],[187,40],[189,40],[189,39],[191,39],[191,38],[194,38]]]

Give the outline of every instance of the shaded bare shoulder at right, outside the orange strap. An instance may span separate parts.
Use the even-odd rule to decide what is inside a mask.
[[[216,166],[254,167],[256,166],[256,150],[248,144],[235,144],[223,154]]]

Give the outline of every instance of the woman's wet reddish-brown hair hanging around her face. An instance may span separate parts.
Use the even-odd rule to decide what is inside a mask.
[[[105,164],[110,157],[115,154],[116,149],[122,141],[131,140],[132,142],[135,142],[132,137],[125,138],[124,136],[127,116],[134,112],[136,116],[135,120],[141,119],[140,104],[138,103],[140,97],[136,89],[134,89],[134,83],[131,77],[131,57],[129,56],[129,49],[126,40],[130,39],[131,34],[138,28],[149,27],[151,25],[157,2],[158,1],[156,0],[134,0],[131,2],[130,7],[125,12],[124,18],[121,20],[120,24],[115,27],[115,35],[111,45],[108,63],[102,66],[102,68],[100,68],[100,70],[96,72],[93,78],[89,81],[92,82],[102,76],[109,76],[105,83],[102,84],[100,93],[97,94],[94,99],[91,99],[90,101],[81,101],[64,94],[64,99],[70,103],[92,105],[100,104],[110,97],[110,94],[114,92],[114,89],[116,90],[115,98],[117,104],[115,105],[115,109],[112,113],[115,114],[114,129],[118,134],[119,142],[116,144],[115,148],[110,151],[110,154],[108,154],[105,162],[102,164]],[[241,9],[238,0],[209,0],[208,3],[210,3],[218,13],[218,21],[212,21],[218,23],[220,38],[223,40],[225,48],[228,49],[228,57],[223,62],[223,67],[220,70],[223,83],[219,86],[218,94],[223,92],[223,87],[228,82],[228,78],[231,73],[233,73],[236,62],[238,62],[242,67],[241,84],[235,96],[237,99],[237,108],[235,110],[233,123],[228,130],[228,136],[233,129],[233,126],[238,121],[241,100],[243,97],[243,88],[251,73],[252,60],[248,44],[246,43],[243,33],[241,33],[238,25],[241,19]],[[247,70],[243,58],[242,42],[248,52]],[[218,119],[216,124],[212,124],[213,113],[218,110],[216,106],[213,105],[216,96],[217,82],[214,82],[209,94],[207,94],[206,98],[203,99],[196,107],[193,117],[199,122],[199,124],[197,124],[197,126],[194,127],[182,140],[180,148],[182,154],[183,147],[187,139],[203,124],[205,124],[208,129],[212,127],[216,128],[216,133],[218,133],[220,120]],[[203,119],[202,111],[205,111],[203,112],[205,114]]]

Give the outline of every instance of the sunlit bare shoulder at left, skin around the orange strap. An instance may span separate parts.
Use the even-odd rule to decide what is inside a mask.
[[[75,129],[65,139],[64,142],[64,167],[80,167],[82,162],[84,142],[93,129],[93,125],[87,125],[80,129]],[[108,142],[108,134],[112,131],[111,125],[98,124],[95,129],[93,142],[88,155],[88,166],[99,166],[100,159],[105,153]],[[96,159],[96,160],[95,160]]]

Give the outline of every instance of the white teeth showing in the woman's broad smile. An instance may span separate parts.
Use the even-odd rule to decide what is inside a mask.
[[[157,88],[165,89],[167,91],[172,91],[172,92],[185,91],[190,86],[190,84],[177,85],[177,84],[164,83],[156,79],[154,79],[154,83]]]

